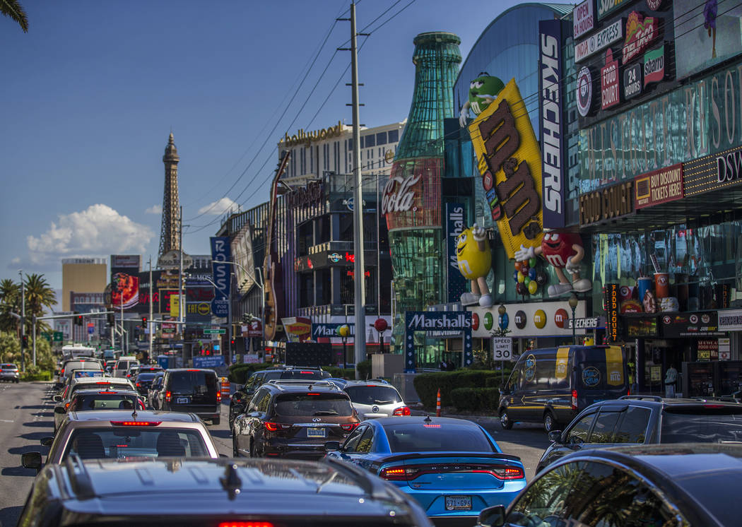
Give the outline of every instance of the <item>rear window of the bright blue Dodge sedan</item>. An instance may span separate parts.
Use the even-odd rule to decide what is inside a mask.
[[[487,436],[476,425],[435,421],[384,425],[393,452],[493,452]]]

